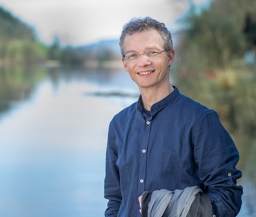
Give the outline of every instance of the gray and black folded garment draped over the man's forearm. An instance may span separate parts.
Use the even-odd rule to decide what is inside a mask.
[[[210,197],[201,193],[202,190],[197,186],[187,187],[184,190],[153,191],[148,203],[148,217],[210,217],[212,214]]]

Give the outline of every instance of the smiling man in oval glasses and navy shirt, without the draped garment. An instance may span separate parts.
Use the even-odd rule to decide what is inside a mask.
[[[120,48],[141,96],[109,126],[105,216],[141,216],[138,198],[145,191],[192,186],[210,198],[212,216],[237,215],[238,151],[214,110],[170,84],[175,54],[170,32],[152,18],[135,18],[124,25]]]

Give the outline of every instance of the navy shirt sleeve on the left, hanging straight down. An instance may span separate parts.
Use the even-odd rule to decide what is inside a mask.
[[[104,197],[108,199],[108,207],[105,216],[114,217],[118,215],[122,202],[119,168],[116,165],[118,152],[112,142],[110,130],[106,149],[106,175],[104,181]]]

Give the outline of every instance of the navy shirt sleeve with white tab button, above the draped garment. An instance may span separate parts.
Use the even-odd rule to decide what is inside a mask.
[[[242,173],[236,169],[239,153],[231,136],[217,113],[202,118],[193,135],[194,160],[203,190],[211,199],[212,215],[236,216],[243,194],[236,180]]]

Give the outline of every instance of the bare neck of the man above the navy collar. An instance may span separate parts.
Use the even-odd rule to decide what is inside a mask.
[[[153,104],[164,99],[174,90],[170,83],[161,89],[152,89],[152,87],[139,89],[141,92],[142,106],[148,111],[150,111],[150,108]]]

